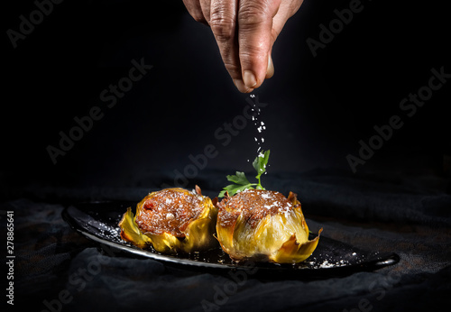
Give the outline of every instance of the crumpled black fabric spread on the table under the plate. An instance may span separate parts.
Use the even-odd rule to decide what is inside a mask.
[[[224,172],[193,181],[215,197]],[[364,250],[396,252],[378,271],[327,279],[268,279],[193,271],[102,249],[61,217],[70,202],[139,200],[170,180],[149,174],[117,188],[32,187],[2,204],[14,210],[14,308],[36,311],[414,311],[451,303],[449,180],[433,174],[352,175],[314,170],[265,177],[299,195],[312,231]],[[146,186],[143,188],[143,186]],[[191,186],[190,186],[191,187]],[[2,231],[5,216],[2,215]],[[30,306],[31,305],[31,306]]]

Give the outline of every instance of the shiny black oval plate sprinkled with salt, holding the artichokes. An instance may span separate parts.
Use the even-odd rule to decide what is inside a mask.
[[[79,234],[112,247],[120,252],[152,258],[170,265],[183,266],[191,270],[247,270],[281,276],[334,277],[352,274],[356,271],[373,271],[395,264],[400,257],[395,253],[367,252],[321,235],[315,252],[304,262],[296,265],[267,262],[236,263],[220,247],[207,252],[167,255],[153,250],[142,250],[124,242],[119,233],[119,223],[128,206],[133,202],[89,202],[65,208],[62,216]],[[315,236],[315,235],[314,235]]]

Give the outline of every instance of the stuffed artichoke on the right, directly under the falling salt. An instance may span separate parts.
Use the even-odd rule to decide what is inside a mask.
[[[318,236],[308,240],[308,226],[296,198],[265,189],[246,189],[216,202],[216,233],[232,260],[275,263],[306,260],[317,248]]]

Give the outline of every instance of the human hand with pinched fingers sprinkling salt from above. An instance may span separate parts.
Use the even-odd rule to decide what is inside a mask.
[[[303,0],[183,0],[189,14],[210,26],[227,71],[240,92],[274,73],[272,46]]]

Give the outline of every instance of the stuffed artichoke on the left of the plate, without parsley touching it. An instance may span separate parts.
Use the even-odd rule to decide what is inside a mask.
[[[215,247],[217,209],[200,188],[165,188],[129,207],[119,223],[124,241],[157,252],[198,252]]]

